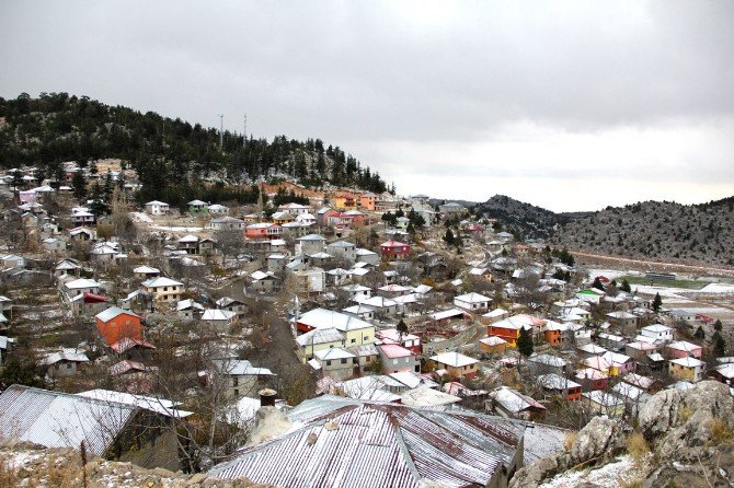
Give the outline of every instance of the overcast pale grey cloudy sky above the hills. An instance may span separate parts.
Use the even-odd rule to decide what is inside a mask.
[[[734,195],[734,2],[0,2],[0,96],[339,144],[399,193]]]

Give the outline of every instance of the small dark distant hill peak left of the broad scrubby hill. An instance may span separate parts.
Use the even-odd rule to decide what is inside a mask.
[[[549,239],[573,219],[569,214],[555,213],[505,195],[495,195],[478,204],[475,210],[497,219],[505,229],[518,231],[524,239]]]

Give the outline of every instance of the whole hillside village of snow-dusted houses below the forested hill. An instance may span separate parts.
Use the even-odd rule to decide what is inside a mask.
[[[119,160],[62,170],[0,176],[0,439],[274,486],[506,487],[660,391],[734,396],[721,277],[594,267],[426,195],[264,177],[253,204],[140,205]]]

